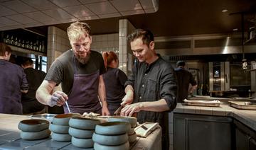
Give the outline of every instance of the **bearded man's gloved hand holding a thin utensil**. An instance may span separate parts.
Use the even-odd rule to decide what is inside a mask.
[[[54,105],[64,105],[65,101],[68,100],[67,94],[62,91],[55,91],[53,95],[50,96],[50,100],[48,101],[48,105],[53,107]]]

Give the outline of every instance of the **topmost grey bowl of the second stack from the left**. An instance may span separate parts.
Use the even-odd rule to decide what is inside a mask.
[[[80,117],[79,113],[68,113],[68,114],[60,114],[55,115],[53,117],[53,124],[54,125],[68,125],[68,122],[71,117]]]

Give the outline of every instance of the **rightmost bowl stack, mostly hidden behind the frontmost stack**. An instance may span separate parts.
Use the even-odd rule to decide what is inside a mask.
[[[131,124],[131,129],[129,129],[129,132],[127,132],[129,138],[129,143],[133,143],[137,139],[137,134],[134,130],[134,128],[137,126],[137,117],[125,117],[125,116],[111,116],[108,118],[109,122],[129,122]]]

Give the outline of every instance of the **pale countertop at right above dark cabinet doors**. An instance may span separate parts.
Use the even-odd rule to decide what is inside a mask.
[[[256,131],[256,110],[238,110],[227,104],[220,104],[220,107],[202,107],[178,103],[174,113],[233,117]]]

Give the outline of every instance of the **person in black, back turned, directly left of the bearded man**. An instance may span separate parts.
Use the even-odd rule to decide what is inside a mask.
[[[34,115],[46,113],[46,105],[36,100],[36,90],[46,77],[46,73],[41,70],[33,69],[33,60],[27,57],[23,58],[21,67],[24,69],[29,86],[28,93],[23,93],[21,97],[23,114]]]

